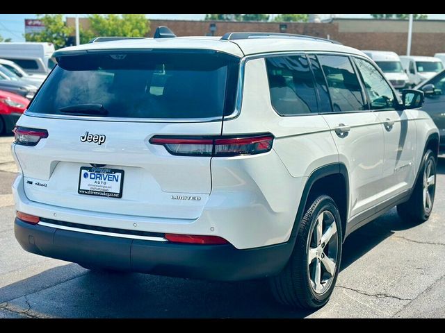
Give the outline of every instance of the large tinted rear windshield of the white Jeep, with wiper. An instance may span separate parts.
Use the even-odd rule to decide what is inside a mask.
[[[238,62],[239,58],[215,51],[63,56],[29,111],[124,118],[222,117],[234,111]]]

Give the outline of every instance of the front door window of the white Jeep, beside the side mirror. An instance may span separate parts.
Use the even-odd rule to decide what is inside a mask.
[[[394,94],[385,78],[366,60],[355,58],[355,64],[362,74],[371,110],[394,109]]]

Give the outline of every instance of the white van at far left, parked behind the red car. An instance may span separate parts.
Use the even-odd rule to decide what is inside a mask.
[[[15,62],[29,74],[48,74],[56,65],[52,43],[0,43],[0,58]]]

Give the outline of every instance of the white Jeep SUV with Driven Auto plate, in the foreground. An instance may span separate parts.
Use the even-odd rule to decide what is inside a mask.
[[[163,31],[164,30],[164,31]],[[56,51],[17,122],[15,236],[38,255],[330,298],[345,237],[426,221],[439,134],[361,51],[316,37],[116,40]]]

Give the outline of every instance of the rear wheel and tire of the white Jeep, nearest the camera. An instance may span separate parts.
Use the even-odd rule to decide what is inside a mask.
[[[322,237],[318,237],[319,220]],[[327,244],[324,244],[320,238],[327,236],[327,230],[332,233]],[[342,240],[341,219],[337,205],[330,196],[318,196],[307,208],[298,225],[296,244],[289,262],[279,275],[270,278],[270,288],[276,300],[291,307],[305,309],[323,307],[331,296],[339,274]],[[325,265],[329,264],[327,260],[331,263],[329,269]],[[318,266],[321,272],[318,275],[321,279],[318,281],[321,283],[316,284],[314,281],[317,279]]]

